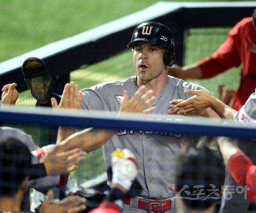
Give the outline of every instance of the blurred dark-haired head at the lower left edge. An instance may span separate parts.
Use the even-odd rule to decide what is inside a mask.
[[[0,141],[0,196],[12,196],[30,173],[31,153],[18,139]]]

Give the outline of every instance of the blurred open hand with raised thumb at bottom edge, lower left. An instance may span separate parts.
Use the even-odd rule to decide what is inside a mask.
[[[53,190],[47,192],[47,199],[43,203],[40,212],[51,213],[51,212],[63,212],[63,213],[76,213],[86,209],[86,199],[78,195],[68,196],[59,202],[52,202],[54,198]]]

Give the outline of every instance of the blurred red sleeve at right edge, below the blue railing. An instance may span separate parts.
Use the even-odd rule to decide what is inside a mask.
[[[256,204],[256,165],[244,153],[237,152],[229,158],[228,169],[239,185],[247,186],[247,195]]]

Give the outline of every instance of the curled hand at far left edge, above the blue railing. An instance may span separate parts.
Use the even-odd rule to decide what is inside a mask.
[[[2,88],[2,104],[14,105],[19,97],[17,83],[9,83]]]

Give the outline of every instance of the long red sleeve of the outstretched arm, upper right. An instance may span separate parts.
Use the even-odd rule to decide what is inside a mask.
[[[202,78],[213,77],[232,66],[240,65],[240,22],[229,31],[225,42],[211,56],[196,63],[201,68]]]

